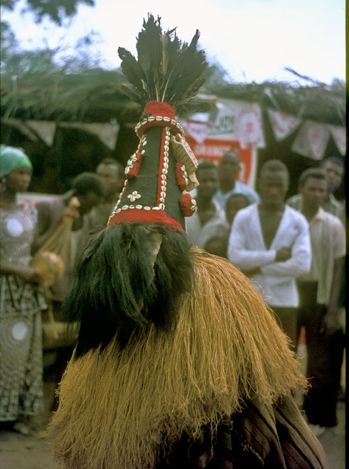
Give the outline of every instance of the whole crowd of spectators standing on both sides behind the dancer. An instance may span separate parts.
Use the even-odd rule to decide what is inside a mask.
[[[6,154],[16,165],[4,164]],[[77,176],[68,193],[31,207],[16,199],[16,193],[28,190],[32,171],[28,158],[18,149],[1,146],[1,166],[1,342],[8,348],[0,365],[0,424],[28,433],[27,417],[41,408],[43,364],[37,356],[41,311],[48,303],[62,320],[75,256],[93,227],[107,225],[124,171],[118,161],[108,158],[96,173]],[[237,149],[227,151],[218,166],[199,163],[198,211],[186,219],[187,236],[210,254],[227,258],[251,279],[295,352],[304,328],[311,389],[303,406],[308,425],[318,436],[337,423],[343,360],[338,309],[343,306],[345,207],[334,195],[343,179],[343,162],[327,158],[320,168],[302,173],[299,193],[289,199],[289,170],[280,160],[271,159],[260,168],[257,191],[238,180],[240,169]],[[78,201],[75,208],[70,206],[72,198]],[[65,273],[43,296],[31,256],[66,217],[73,220]],[[26,345],[30,343],[36,348]],[[26,357],[11,374],[9,363],[18,362],[18,350]],[[58,352],[57,382],[72,352],[72,346]]]

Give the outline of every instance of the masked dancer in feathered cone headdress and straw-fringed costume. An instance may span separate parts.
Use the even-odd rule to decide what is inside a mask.
[[[139,146],[108,226],[75,265],[81,319],[50,424],[64,468],[327,468],[292,397],[306,380],[249,280],[193,247],[197,161],[176,115],[203,83],[188,45],[149,15],[138,60],[119,48],[143,107]]]

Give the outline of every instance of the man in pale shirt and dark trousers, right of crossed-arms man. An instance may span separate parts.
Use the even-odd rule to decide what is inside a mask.
[[[311,383],[304,398],[304,411],[316,436],[337,424],[341,364],[337,355],[343,343],[338,325],[338,300],[343,279],[345,230],[338,217],[321,207],[327,190],[326,174],[321,169],[310,168],[301,174],[301,210],[309,222],[312,262],[308,274],[299,277],[298,282],[299,329],[304,325],[306,330],[306,376]]]

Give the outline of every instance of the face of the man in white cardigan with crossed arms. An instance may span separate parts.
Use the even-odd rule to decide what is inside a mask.
[[[279,207],[284,203],[289,181],[284,171],[263,171],[259,177],[259,194],[267,207]]]

